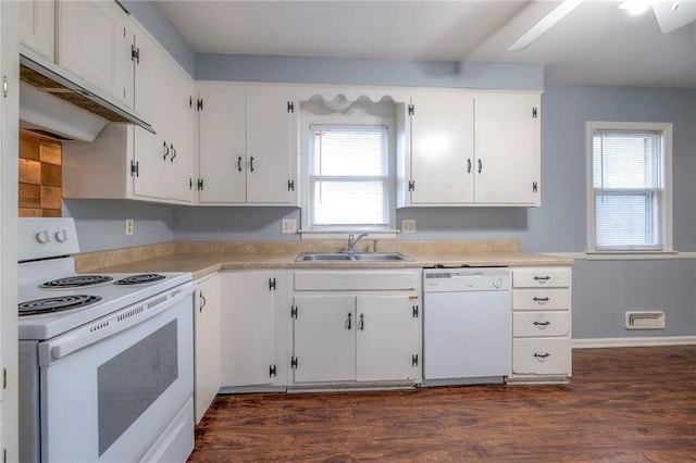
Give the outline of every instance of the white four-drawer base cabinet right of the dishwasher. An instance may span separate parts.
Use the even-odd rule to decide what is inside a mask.
[[[508,383],[571,376],[571,268],[512,271],[512,375]]]

